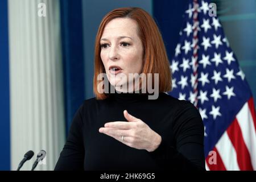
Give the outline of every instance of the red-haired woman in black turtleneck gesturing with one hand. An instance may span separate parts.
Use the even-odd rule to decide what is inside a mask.
[[[108,92],[108,84],[101,85],[101,73],[106,73],[104,80],[114,93]],[[151,81],[159,89],[158,98],[148,99],[148,88],[146,93],[135,93],[145,88],[144,80],[135,86],[129,73],[158,73],[159,81]],[[151,16],[139,8],[108,13],[96,37],[96,98],[85,100],[77,111],[55,169],[204,170],[199,111],[190,102],[164,93],[170,90],[166,49]]]

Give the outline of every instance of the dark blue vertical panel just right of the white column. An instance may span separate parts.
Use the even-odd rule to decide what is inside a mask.
[[[81,0],[60,0],[66,133],[84,100]]]

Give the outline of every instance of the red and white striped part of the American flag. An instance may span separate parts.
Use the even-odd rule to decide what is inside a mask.
[[[210,164],[208,156],[206,168],[209,170],[256,170],[256,118],[252,97],[222,134],[213,151],[217,164]]]

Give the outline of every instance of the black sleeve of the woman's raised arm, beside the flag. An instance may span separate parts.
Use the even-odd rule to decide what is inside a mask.
[[[203,121],[196,107],[182,102],[175,113],[171,137],[162,136],[150,155],[164,169],[205,170]]]

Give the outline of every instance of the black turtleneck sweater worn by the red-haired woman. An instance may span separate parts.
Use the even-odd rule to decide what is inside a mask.
[[[123,110],[141,119],[162,137],[155,151],[138,150],[98,131],[106,122],[126,121]],[[111,94],[85,100],[73,118],[55,170],[205,170],[204,126],[188,101],[166,93]]]

